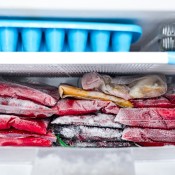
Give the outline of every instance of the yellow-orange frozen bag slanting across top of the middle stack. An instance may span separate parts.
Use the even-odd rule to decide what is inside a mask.
[[[61,98],[74,97],[78,99],[87,99],[87,100],[104,100],[111,101],[121,107],[133,107],[132,103],[111,95],[106,95],[98,91],[86,91],[81,88],[77,88],[69,85],[60,85],[59,94]]]

